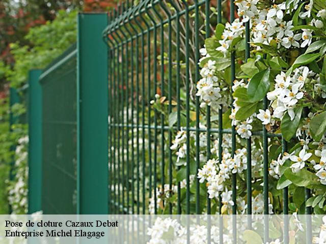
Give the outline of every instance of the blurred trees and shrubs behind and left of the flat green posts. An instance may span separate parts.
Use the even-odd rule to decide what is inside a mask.
[[[45,68],[76,41],[76,14],[105,12],[117,0],[2,0],[0,2],[0,214],[27,209],[25,105],[9,106],[9,88],[23,87],[31,69]],[[10,111],[17,123],[10,126]]]

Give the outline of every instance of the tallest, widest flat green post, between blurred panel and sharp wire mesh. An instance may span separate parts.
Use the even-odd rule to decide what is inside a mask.
[[[77,214],[108,214],[106,13],[80,13],[77,39]]]

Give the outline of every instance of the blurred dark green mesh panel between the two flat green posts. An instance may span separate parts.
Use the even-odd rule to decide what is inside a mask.
[[[41,75],[42,210],[76,213],[76,47]]]

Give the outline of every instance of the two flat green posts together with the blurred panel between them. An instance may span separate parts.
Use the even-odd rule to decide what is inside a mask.
[[[30,213],[108,212],[106,25],[106,14],[79,14],[77,43],[30,71]]]

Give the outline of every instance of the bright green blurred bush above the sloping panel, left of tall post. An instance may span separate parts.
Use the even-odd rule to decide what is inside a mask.
[[[52,22],[31,28],[25,39],[32,43],[32,48],[19,46],[18,42],[11,45],[16,61],[6,74],[11,86],[20,87],[26,82],[29,70],[45,68],[76,41],[76,13],[61,10]]]

